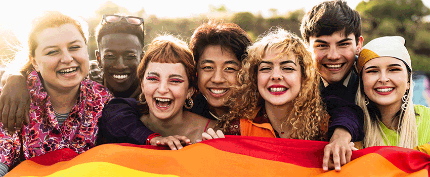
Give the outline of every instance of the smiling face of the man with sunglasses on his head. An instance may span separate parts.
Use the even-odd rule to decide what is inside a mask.
[[[143,57],[139,38],[133,34],[107,34],[99,45],[96,58],[99,67],[104,68],[105,85],[114,93],[133,93],[139,85],[136,71]]]

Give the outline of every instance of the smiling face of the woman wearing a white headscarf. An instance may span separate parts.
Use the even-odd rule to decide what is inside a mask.
[[[364,93],[376,106],[400,109],[410,88],[405,63],[393,57],[375,58],[364,64],[362,72]]]

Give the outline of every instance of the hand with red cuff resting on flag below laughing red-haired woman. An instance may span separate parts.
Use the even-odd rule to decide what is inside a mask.
[[[183,148],[183,145],[190,145],[191,140],[185,136],[168,136],[168,137],[154,137],[149,142],[153,146],[168,146],[171,150],[179,150]]]

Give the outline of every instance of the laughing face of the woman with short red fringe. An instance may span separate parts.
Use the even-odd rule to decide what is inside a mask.
[[[182,112],[186,98],[194,94],[182,63],[149,62],[142,79],[142,92],[150,116],[170,119]]]

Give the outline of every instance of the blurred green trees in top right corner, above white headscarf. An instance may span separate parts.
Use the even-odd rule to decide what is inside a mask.
[[[425,17],[430,9],[421,0],[370,0],[356,7],[362,18],[364,43],[380,37],[400,35],[414,71],[429,72],[430,22]]]

